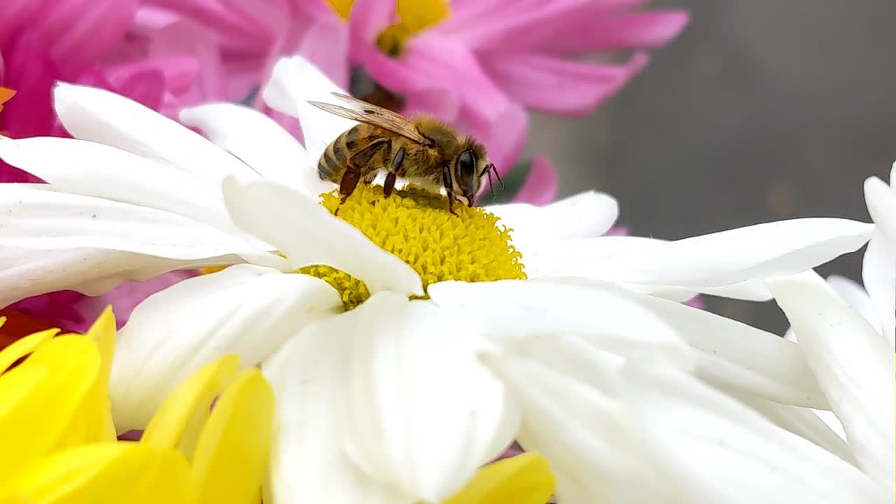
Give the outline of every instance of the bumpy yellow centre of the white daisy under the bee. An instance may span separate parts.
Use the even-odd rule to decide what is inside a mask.
[[[521,254],[513,248],[512,230],[482,208],[455,203],[448,212],[445,196],[409,188],[383,196],[383,187],[359,184],[340,205],[339,191],[321,195],[323,207],[349,222],[376,245],[401,258],[430,283],[446,280],[494,282],[526,278]],[[336,213],[336,210],[339,213]],[[300,268],[330,283],[346,309],[370,297],[364,282],[327,265]]]

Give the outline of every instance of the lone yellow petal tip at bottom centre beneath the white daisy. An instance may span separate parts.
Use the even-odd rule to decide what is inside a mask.
[[[554,493],[554,474],[537,453],[486,465],[445,504],[545,504]]]

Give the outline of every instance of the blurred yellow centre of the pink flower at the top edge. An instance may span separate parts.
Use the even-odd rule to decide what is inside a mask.
[[[353,0],[327,0],[333,10],[346,21]],[[401,55],[401,45],[411,36],[441,22],[451,13],[447,0],[396,0],[399,22],[387,27],[376,39],[376,45],[390,56]]]

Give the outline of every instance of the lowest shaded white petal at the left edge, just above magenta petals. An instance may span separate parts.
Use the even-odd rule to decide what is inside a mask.
[[[65,289],[99,296],[128,280],[142,282],[169,271],[239,262],[242,259],[237,256],[178,261],[98,248],[35,250],[0,247],[0,265],[3,265],[0,268],[0,307]]]

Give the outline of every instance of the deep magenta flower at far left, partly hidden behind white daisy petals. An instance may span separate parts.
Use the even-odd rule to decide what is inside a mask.
[[[13,137],[65,135],[51,103],[57,80],[111,89],[153,109],[169,106],[174,111],[177,93],[193,79],[196,65],[152,54],[123,57],[125,34],[137,7],[138,0],[5,0],[0,85],[15,95],[0,92],[0,102],[5,101],[0,132]],[[0,182],[42,181],[0,161]],[[122,324],[137,302],[185,274],[123,285],[101,302],[114,306]],[[78,331],[99,315],[96,304],[77,292],[61,291],[22,300],[9,309]]]

